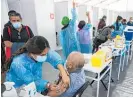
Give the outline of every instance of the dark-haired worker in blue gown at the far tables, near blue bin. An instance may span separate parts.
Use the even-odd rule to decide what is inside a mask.
[[[122,24],[122,17],[118,16],[116,19],[116,22],[113,24],[115,27],[115,31],[112,32],[112,37],[115,37],[116,35],[123,35],[124,26]]]

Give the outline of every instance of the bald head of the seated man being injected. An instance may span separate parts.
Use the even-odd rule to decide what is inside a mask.
[[[67,58],[67,69],[69,72],[75,71],[77,68],[84,66],[85,60],[83,54],[80,52],[72,52]]]

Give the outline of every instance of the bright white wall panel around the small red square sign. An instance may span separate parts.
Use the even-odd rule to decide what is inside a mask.
[[[52,49],[56,48],[55,19],[50,19],[54,13],[53,0],[34,0],[38,34],[44,36]]]

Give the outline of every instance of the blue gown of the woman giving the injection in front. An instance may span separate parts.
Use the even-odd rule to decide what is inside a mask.
[[[62,59],[55,51],[49,50],[46,62],[57,69],[58,64],[62,64]],[[42,79],[42,64],[31,59],[27,53],[20,54],[14,57],[6,74],[6,81],[14,82],[15,88],[35,82],[37,91],[42,92],[48,83]]]

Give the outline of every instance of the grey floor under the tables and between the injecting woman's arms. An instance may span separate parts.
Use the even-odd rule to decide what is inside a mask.
[[[62,56],[61,51],[58,53]],[[130,61],[129,65],[124,68],[121,72],[120,80],[117,81],[117,70],[119,64],[119,58],[117,58],[113,64],[112,78],[114,82],[111,83],[110,97],[133,97],[133,59]],[[90,74],[90,73],[86,73]],[[57,79],[58,70],[52,68],[49,64],[44,64],[43,66],[43,78],[54,82]],[[104,80],[106,83],[107,79]],[[90,80],[91,81],[91,80]],[[107,84],[107,83],[106,83]],[[107,91],[100,85],[100,97],[106,97]],[[88,86],[84,91],[83,97],[95,97],[96,96],[96,82],[92,86]]]

